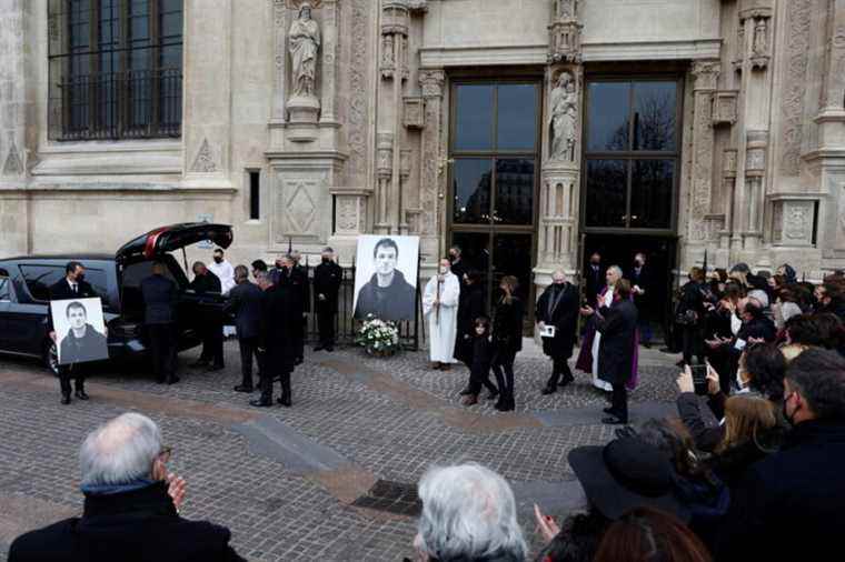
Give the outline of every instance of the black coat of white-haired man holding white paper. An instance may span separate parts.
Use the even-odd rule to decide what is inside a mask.
[[[543,338],[543,352],[554,359],[569,359],[578,331],[578,288],[566,283],[563,290],[551,284],[537,301],[537,321],[555,327],[554,338]]]

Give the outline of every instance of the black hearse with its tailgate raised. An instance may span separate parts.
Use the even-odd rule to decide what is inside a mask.
[[[152,273],[156,260],[167,264],[169,277],[180,288],[179,350],[198,345],[201,312],[210,308],[222,314],[223,303],[222,295],[197,295],[188,289],[185,248],[206,240],[228,248],[231,227],[207,222],[162,227],[127,242],[113,255],[68,253],[0,259],[0,353],[38,358],[56,372],[56,345],[47,331],[49,290],[64,277],[64,265],[71,260],[84,265],[86,281],[102,298],[110,359],[147,351],[140,283]],[[185,269],[171,254],[178,250],[182,250]]]

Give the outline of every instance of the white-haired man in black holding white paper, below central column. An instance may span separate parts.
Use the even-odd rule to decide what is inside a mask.
[[[551,274],[551,284],[543,291],[537,301],[536,319],[540,330],[554,327],[555,335],[543,339],[543,352],[551,358],[551,377],[543,389],[544,394],[557,392],[558,382],[565,387],[575,378],[567,361],[573,357],[578,330],[578,288],[566,281],[566,273],[557,270]],[[560,378],[563,377],[563,380]]]

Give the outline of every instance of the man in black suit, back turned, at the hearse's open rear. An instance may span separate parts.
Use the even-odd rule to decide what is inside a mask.
[[[157,261],[152,274],[141,281],[143,297],[143,323],[152,351],[152,372],[161,384],[179,382],[176,375],[176,304],[179,289],[172,279],[165,275],[167,265]]]

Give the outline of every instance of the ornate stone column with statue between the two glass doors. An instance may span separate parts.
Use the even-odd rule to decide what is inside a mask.
[[[578,263],[583,67],[578,2],[556,0],[549,26],[547,100],[543,121],[537,284],[555,269],[575,272]]]

